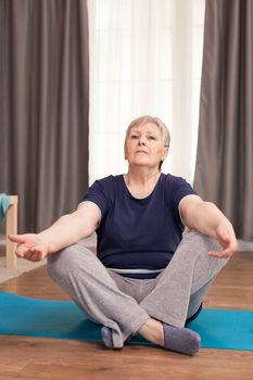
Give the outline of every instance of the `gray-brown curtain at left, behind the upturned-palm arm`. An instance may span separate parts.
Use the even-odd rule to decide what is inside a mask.
[[[72,212],[88,185],[86,0],[0,0],[0,192],[18,231]]]

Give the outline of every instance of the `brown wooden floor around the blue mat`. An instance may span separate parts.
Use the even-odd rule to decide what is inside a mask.
[[[0,290],[37,299],[68,299],[45,267],[0,284]],[[205,306],[253,309],[253,253],[232,257],[212,286]],[[1,335],[3,379],[252,380],[253,352],[201,349],[188,357],[160,347],[125,346],[115,352],[102,343]]]

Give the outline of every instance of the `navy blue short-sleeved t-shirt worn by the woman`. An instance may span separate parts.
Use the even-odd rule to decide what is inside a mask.
[[[96,203],[102,214],[98,257],[123,276],[156,277],[182,238],[178,205],[190,194],[195,191],[185,179],[163,173],[143,199],[130,193],[123,175],[96,180],[83,201]]]

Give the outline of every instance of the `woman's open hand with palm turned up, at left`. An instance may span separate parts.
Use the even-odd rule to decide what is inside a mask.
[[[48,243],[36,233],[9,235],[8,238],[18,244],[16,249],[17,257],[39,262],[49,253]]]

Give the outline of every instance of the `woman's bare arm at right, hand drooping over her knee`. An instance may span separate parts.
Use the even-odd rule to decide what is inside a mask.
[[[187,197],[180,202],[180,212],[187,227],[218,241],[220,251],[210,252],[210,255],[229,257],[236,252],[238,242],[232,225],[214,203],[197,195]]]

